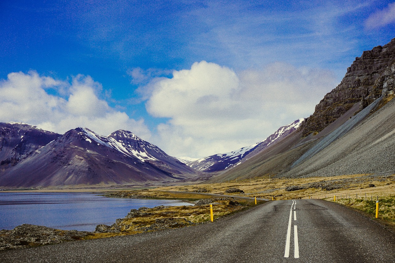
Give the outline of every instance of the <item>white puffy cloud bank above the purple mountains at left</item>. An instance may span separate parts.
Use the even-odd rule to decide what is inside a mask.
[[[51,95],[47,90],[64,96]],[[36,71],[9,73],[0,81],[0,121],[25,122],[58,133],[79,126],[102,135],[127,129],[149,139],[144,120],[113,109],[100,99],[100,92],[100,83],[89,76],[77,75],[69,83]]]

